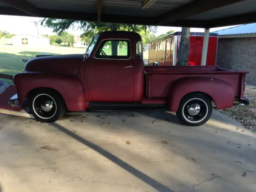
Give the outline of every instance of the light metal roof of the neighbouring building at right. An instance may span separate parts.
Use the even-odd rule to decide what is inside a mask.
[[[214,32],[218,33],[219,35],[252,34],[252,33],[256,33],[256,23],[235,26],[235,27],[222,29]]]

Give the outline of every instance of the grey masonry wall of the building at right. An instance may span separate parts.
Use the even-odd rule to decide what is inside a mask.
[[[219,38],[217,65],[230,70],[249,71],[246,84],[256,85],[256,38]]]

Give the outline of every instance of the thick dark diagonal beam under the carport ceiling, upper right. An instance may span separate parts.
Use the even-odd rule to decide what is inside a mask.
[[[172,11],[167,12],[158,17],[158,25],[166,24],[168,22],[184,19],[188,16],[241,2],[244,0],[194,0],[188,4],[180,6]]]

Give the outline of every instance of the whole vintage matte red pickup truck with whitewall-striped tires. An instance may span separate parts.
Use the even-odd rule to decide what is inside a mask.
[[[85,54],[40,56],[14,75],[19,104],[29,102],[36,120],[54,122],[65,111],[122,107],[176,112],[180,121],[199,126],[216,108],[243,98],[245,75],[217,66],[144,66],[142,39],[134,32],[100,32]],[[236,101],[235,101],[236,100]]]

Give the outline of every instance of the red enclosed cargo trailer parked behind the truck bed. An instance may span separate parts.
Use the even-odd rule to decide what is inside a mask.
[[[181,32],[168,34],[150,42],[148,64],[160,66],[174,66],[180,45]],[[190,32],[188,65],[201,65],[204,33]],[[218,33],[210,33],[206,65],[216,64]]]

